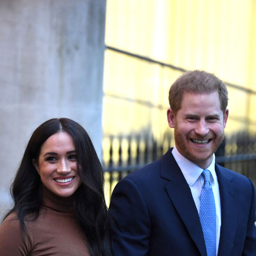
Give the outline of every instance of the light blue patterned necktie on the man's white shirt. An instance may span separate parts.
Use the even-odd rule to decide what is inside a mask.
[[[210,183],[210,171],[203,170],[201,191],[200,222],[207,250],[207,256],[216,256],[216,208]]]

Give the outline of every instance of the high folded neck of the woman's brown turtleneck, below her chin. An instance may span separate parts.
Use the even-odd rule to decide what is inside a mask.
[[[42,185],[42,205],[45,207],[59,212],[72,213],[74,212],[73,203],[75,199],[75,194],[68,197],[57,196],[44,185]]]

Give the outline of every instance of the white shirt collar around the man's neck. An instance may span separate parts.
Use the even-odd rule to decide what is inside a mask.
[[[200,177],[203,169],[189,161],[187,158],[184,158],[184,156],[179,153],[176,146],[173,147],[172,154],[178,166],[180,167],[188,185],[192,187],[196,180]],[[207,169],[212,174],[210,177],[211,184],[214,184],[215,181],[217,181],[217,176],[215,173],[215,154],[213,154],[212,162]]]

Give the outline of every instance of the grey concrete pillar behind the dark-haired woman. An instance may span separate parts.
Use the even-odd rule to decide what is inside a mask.
[[[101,158],[106,0],[0,0],[0,217],[31,133],[68,117]]]

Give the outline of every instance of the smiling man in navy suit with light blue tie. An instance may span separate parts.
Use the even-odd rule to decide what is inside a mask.
[[[215,163],[229,111],[215,75],[189,71],[169,90],[175,147],[113,191],[115,256],[256,256],[255,188]]]

